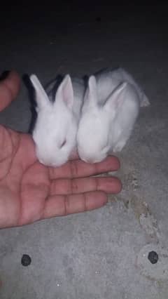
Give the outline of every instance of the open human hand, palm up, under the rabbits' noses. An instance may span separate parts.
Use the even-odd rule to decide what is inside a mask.
[[[20,77],[10,72],[0,83],[0,110],[10,104],[19,88]],[[108,193],[120,192],[120,180],[91,175],[119,167],[116,157],[97,164],[77,159],[58,168],[43,166],[36,159],[31,135],[0,126],[0,228],[103,206]]]

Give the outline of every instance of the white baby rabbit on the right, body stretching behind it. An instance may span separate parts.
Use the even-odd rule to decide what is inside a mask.
[[[130,138],[139,107],[148,98],[124,69],[91,76],[78,126],[78,154],[96,163],[120,152]]]

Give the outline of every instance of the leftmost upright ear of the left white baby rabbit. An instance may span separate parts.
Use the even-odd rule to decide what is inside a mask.
[[[45,93],[43,86],[41,85],[40,81],[36,77],[35,74],[31,74],[30,76],[31,83],[33,84],[35,91],[36,91],[36,104],[38,108],[43,108],[48,105],[48,95]]]

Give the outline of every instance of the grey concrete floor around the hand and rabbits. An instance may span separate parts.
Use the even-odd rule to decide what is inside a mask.
[[[144,88],[134,133],[118,156],[123,191],[104,208],[0,231],[1,299],[167,299],[168,39],[164,9],[63,6],[1,20],[0,71],[83,76],[121,65]],[[13,8],[11,8],[13,10]],[[76,11],[77,10],[77,11]],[[138,11],[140,11],[138,13]],[[162,19],[159,17],[162,13]],[[8,15],[8,18],[6,16]],[[166,13],[165,13],[166,15]],[[157,20],[157,22],[155,22]],[[29,129],[27,88],[0,114],[1,124]],[[156,251],[158,263],[148,260]],[[31,265],[23,267],[24,253]]]

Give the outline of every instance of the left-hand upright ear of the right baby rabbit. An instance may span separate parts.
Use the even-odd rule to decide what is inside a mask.
[[[90,106],[97,105],[97,81],[94,76],[90,76],[85,93],[85,104]]]

